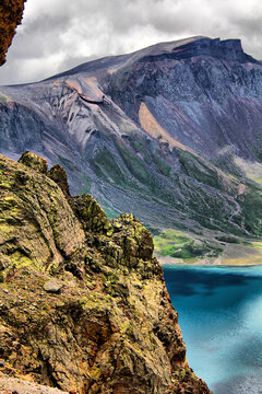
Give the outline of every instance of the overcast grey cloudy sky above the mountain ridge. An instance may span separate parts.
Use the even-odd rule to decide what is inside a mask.
[[[194,35],[241,38],[262,59],[261,0],[27,0],[0,84]]]

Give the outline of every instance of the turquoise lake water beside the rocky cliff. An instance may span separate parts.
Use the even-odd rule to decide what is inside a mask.
[[[194,372],[214,394],[261,394],[262,266],[164,273]]]

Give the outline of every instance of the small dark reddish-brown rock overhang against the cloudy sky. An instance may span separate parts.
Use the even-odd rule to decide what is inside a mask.
[[[16,26],[21,23],[26,0],[1,0],[0,3],[0,66],[12,43]]]

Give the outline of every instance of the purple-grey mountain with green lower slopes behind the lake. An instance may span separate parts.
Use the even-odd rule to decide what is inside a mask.
[[[64,165],[71,193],[151,229],[262,234],[262,63],[192,37],[0,88],[0,150]]]

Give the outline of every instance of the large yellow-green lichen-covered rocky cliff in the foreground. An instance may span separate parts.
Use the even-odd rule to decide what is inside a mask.
[[[0,157],[5,368],[82,394],[210,393],[188,366],[148,230],[69,196],[26,157]]]

